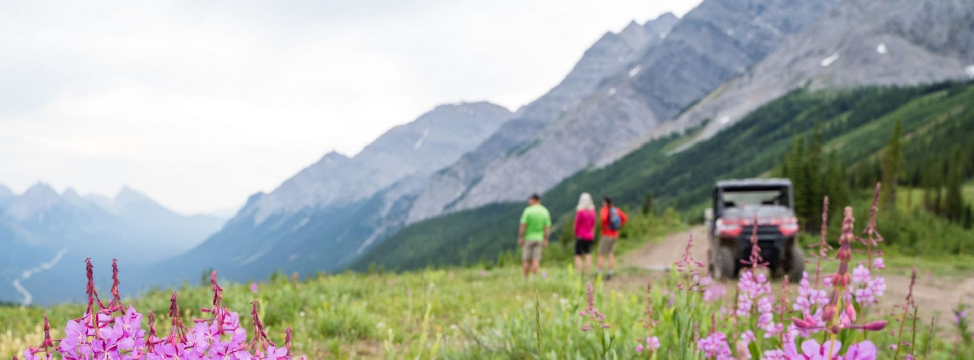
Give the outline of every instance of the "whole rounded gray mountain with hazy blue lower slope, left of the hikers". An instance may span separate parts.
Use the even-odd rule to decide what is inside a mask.
[[[274,192],[248,198],[220,232],[157,269],[178,269],[176,277],[185,278],[211,268],[241,280],[273,270],[337,270],[387,229],[397,229],[417,184],[510,116],[487,102],[441,105],[393,127],[354,158],[328,153]]]

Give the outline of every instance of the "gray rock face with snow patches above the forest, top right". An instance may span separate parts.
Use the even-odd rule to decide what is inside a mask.
[[[846,0],[761,63],[714,90],[667,130],[713,120],[699,141],[801,87],[842,89],[969,79],[974,78],[971,65],[971,1]]]

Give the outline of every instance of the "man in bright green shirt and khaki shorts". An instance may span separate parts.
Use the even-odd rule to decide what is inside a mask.
[[[551,234],[551,214],[542,205],[542,197],[537,194],[528,199],[528,207],[521,213],[521,226],[517,231],[517,246],[521,247],[521,261],[524,262],[524,277],[538,274],[542,265],[542,248],[547,247]]]

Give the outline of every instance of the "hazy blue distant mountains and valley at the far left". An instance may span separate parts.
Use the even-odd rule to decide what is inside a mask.
[[[0,300],[80,299],[83,281],[67,279],[83,279],[84,258],[98,266],[112,258],[129,267],[160,261],[196,246],[225,220],[176,214],[128,187],[107,198],[57,194],[44,183],[19,195],[0,186]]]

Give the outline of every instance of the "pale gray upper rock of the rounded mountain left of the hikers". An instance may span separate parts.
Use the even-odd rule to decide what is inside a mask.
[[[436,107],[410,124],[393,127],[354,159],[326,154],[274,192],[248,201],[234,221],[259,225],[276,214],[370,198],[413,173],[456,162],[510,115],[486,102]]]

